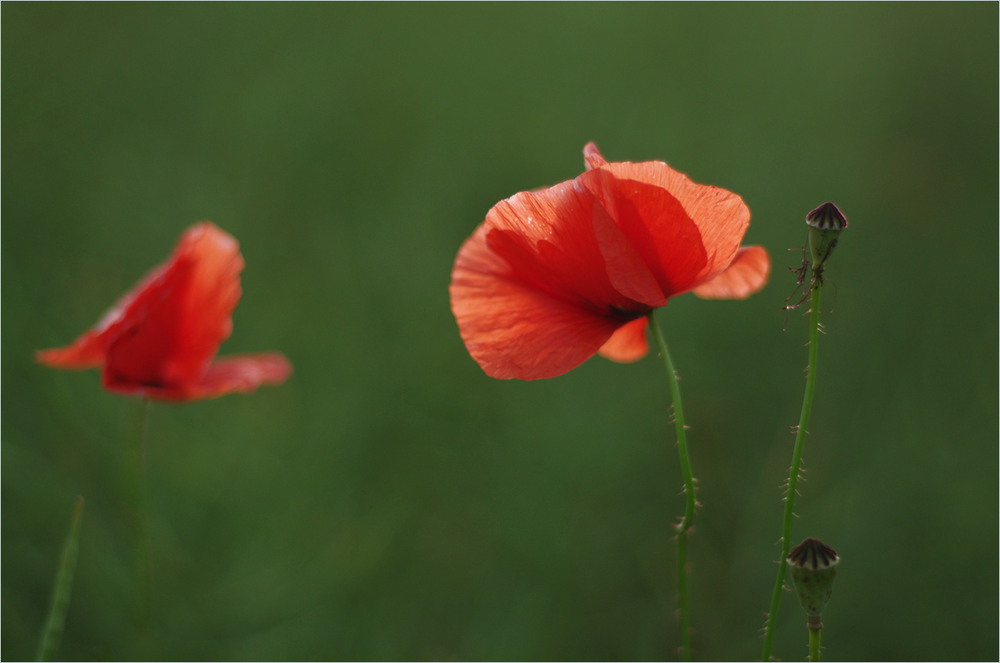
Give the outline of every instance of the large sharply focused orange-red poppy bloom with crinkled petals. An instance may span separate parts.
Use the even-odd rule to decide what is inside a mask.
[[[555,377],[600,352],[646,354],[646,314],[688,291],[744,299],[767,282],[750,211],[659,161],[608,163],[589,143],[576,179],[497,203],[455,259],[451,307],[496,378]]]

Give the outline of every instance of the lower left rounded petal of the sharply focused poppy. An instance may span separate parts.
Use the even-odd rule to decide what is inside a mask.
[[[508,260],[487,245],[488,227],[481,225],[462,245],[450,287],[472,358],[491,377],[536,380],[592,357],[622,321],[516,278]]]

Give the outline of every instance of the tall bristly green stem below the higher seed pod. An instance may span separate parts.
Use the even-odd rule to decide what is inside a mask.
[[[795,430],[795,447],[792,450],[792,466],[788,469],[788,489],[785,494],[785,517],[781,526],[781,558],[778,562],[778,577],[774,581],[774,591],[771,594],[771,608],[767,612],[767,627],[764,631],[764,652],[762,661],[771,657],[771,644],[774,641],[774,622],[778,616],[778,605],[781,603],[781,592],[785,584],[785,571],[788,568],[788,552],[792,545],[792,519],[795,517],[795,489],[799,482],[799,471],[802,467],[802,449],[805,446],[809,415],[812,413],[813,395],[816,392],[816,364],[819,357],[819,296],[823,288],[820,279],[813,279],[812,300],[809,303],[809,369],[806,374],[806,390],[802,397],[802,414]]]

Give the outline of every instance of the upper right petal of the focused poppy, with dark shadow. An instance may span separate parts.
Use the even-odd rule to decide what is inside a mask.
[[[660,161],[609,163],[577,181],[608,211],[668,297],[729,265],[750,223],[738,195],[696,184]]]

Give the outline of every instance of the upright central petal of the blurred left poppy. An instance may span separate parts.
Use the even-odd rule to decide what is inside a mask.
[[[105,386],[158,389],[197,383],[232,331],[242,269],[231,235],[210,223],[189,229],[170,262],[137,293],[117,324],[107,347]]]

